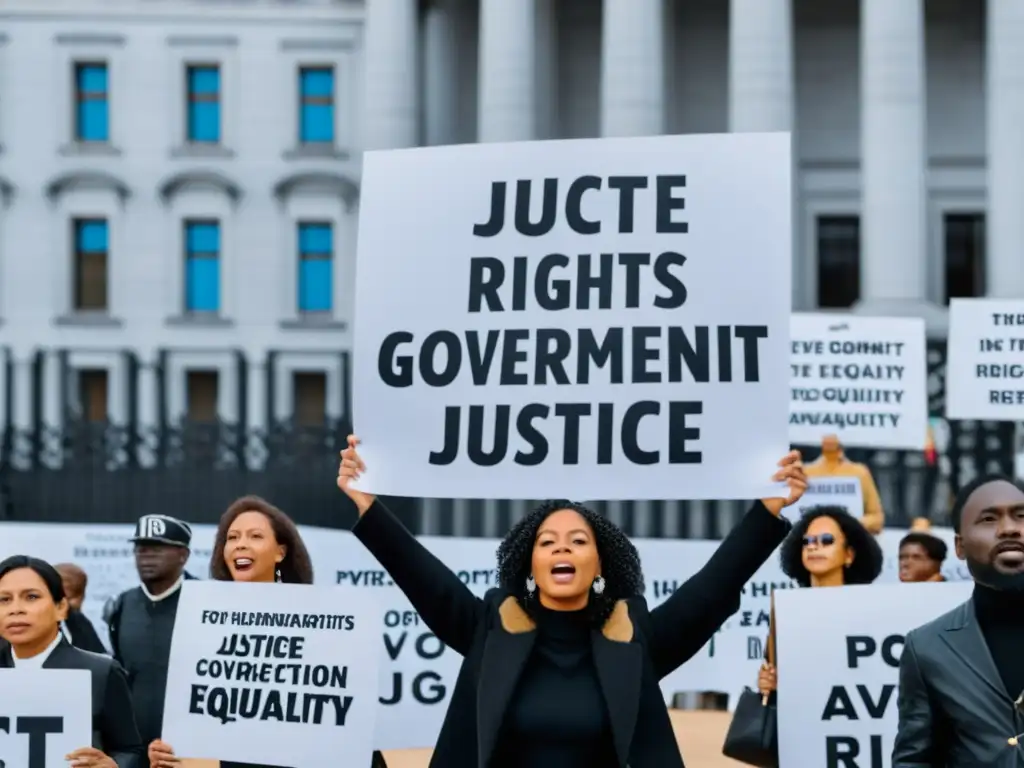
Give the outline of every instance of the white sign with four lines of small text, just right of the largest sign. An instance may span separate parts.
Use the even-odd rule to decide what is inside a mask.
[[[796,313],[791,334],[793,442],[835,434],[851,447],[925,447],[923,319]]]

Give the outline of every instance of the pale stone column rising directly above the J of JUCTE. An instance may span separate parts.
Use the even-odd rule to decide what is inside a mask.
[[[536,0],[480,0],[477,141],[527,141],[537,130]]]

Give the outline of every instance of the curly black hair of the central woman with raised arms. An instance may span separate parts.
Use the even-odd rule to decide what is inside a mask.
[[[535,610],[536,600],[530,599],[526,592],[534,543],[541,523],[552,513],[563,509],[578,513],[594,531],[605,586],[600,595],[591,593],[587,607],[591,621],[600,626],[611,615],[615,601],[643,595],[643,569],[640,567],[640,553],[629,537],[607,518],[582,504],[553,499],[542,503],[513,525],[498,546],[498,583],[516,597],[527,613]]]

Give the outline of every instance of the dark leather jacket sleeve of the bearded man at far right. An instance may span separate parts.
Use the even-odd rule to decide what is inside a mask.
[[[913,633],[906,636],[899,660],[899,726],[893,744],[892,768],[944,766],[935,739],[935,718],[921,664],[913,648]]]

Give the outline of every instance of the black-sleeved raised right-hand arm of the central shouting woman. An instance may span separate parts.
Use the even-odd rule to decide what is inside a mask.
[[[743,586],[788,530],[784,518],[756,502],[707,564],[651,611],[649,652],[659,678],[692,657],[739,610]]]

